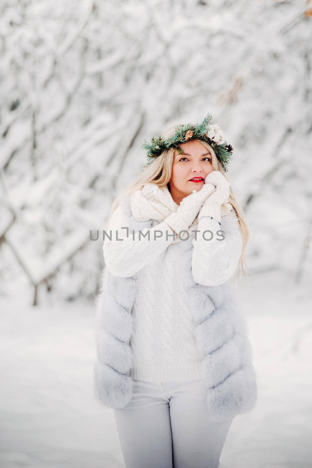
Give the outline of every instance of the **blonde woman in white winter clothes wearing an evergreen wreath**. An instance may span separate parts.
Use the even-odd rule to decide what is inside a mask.
[[[126,468],[216,468],[233,417],[256,401],[231,284],[248,240],[224,175],[232,147],[209,114],[142,146],[148,164],[104,233],[95,394]]]

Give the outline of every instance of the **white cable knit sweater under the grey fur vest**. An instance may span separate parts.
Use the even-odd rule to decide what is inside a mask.
[[[172,200],[173,201],[173,200]],[[173,206],[176,211],[178,205]],[[234,213],[234,214],[233,214]],[[224,214],[224,213],[223,213]],[[236,216],[234,210],[227,216]],[[105,264],[113,275],[130,277],[135,275],[137,293],[132,314],[135,333],[131,339],[133,354],[132,378],[134,380],[176,381],[201,379],[202,356],[197,350],[193,336],[194,323],[186,306],[181,263],[183,250],[179,242],[173,241],[173,233],[165,218],[151,229],[150,239],[139,233],[133,237],[126,229],[129,213],[119,205],[106,229],[112,240],[104,240]],[[222,218],[221,218],[222,221]],[[242,238],[237,223],[234,233],[225,235],[220,241],[222,230],[218,221],[203,217],[193,227],[200,232],[193,237],[192,274],[202,285],[220,285],[231,278],[237,268],[242,249]],[[118,239],[116,240],[116,230]],[[160,230],[162,236],[154,239],[153,232]],[[211,241],[202,238],[202,232],[214,234]],[[168,239],[166,239],[166,233]],[[191,235],[190,235],[191,237]],[[206,233],[206,238],[211,237]],[[183,242],[183,241],[180,241]]]

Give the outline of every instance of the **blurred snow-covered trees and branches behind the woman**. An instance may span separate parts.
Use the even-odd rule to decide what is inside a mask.
[[[92,298],[90,230],[142,140],[207,112],[234,148],[248,270],[311,275],[309,1],[2,0],[0,293]]]

